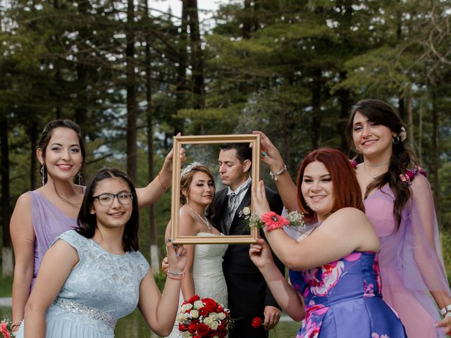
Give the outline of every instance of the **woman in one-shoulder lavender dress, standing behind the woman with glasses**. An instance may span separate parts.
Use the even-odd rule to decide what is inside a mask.
[[[184,159],[184,154],[182,155]],[[16,265],[13,280],[13,331],[23,319],[25,303],[35,282],[44,253],[54,239],[77,225],[83,197],[80,186],[85,146],[80,127],[70,120],[51,121],[37,148],[42,187],[21,195],[11,216],[11,239]],[[171,182],[172,152],[161,175],[137,189],[140,206],[158,201]],[[75,184],[76,181],[78,184]]]

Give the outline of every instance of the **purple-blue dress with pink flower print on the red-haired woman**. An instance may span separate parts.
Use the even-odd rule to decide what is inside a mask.
[[[354,251],[319,268],[290,270],[290,282],[305,303],[297,338],[407,337],[397,314],[382,299],[376,257]]]

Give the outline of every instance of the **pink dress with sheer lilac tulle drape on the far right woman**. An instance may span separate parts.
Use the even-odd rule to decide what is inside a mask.
[[[431,187],[423,175],[411,181],[412,199],[402,210],[397,229],[393,192],[388,185],[365,199],[366,215],[381,241],[383,299],[400,315],[409,338],[445,337],[431,292],[450,296],[440,251]]]

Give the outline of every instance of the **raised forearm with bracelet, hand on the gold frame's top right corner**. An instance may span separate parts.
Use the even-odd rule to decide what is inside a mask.
[[[287,209],[288,212],[297,210],[297,189],[296,184],[293,182],[290,177],[290,173],[285,168],[285,163],[283,162],[282,156],[280,156],[279,151],[276,146],[274,146],[270,139],[263,132],[252,132],[253,134],[260,135],[260,143],[261,143],[261,162],[268,165],[271,173],[277,174],[274,177],[274,182],[276,183],[276,187],[282,198],[283,205]],[[276,180],[277,178],[277,180]]]

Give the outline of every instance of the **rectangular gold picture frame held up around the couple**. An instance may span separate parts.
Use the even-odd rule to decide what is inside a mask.
[[[252,144],[252,185],[260,179],[260,135],[235,134],[235,135],[204,135],[204,136],[175,136],[173,137],[173,175],[171,195],[171,239],[174,244],[251,244],[257,241],[259,231],[256,228],[250,230],[249,235],[230,236],[180,236],[179,210],[180,210],[180,149],[189,144],[223,144],[223,143],[249,143]],[[189,156],[189,154],[188,154]],[[253,211],[251,201],[251,211]]]

